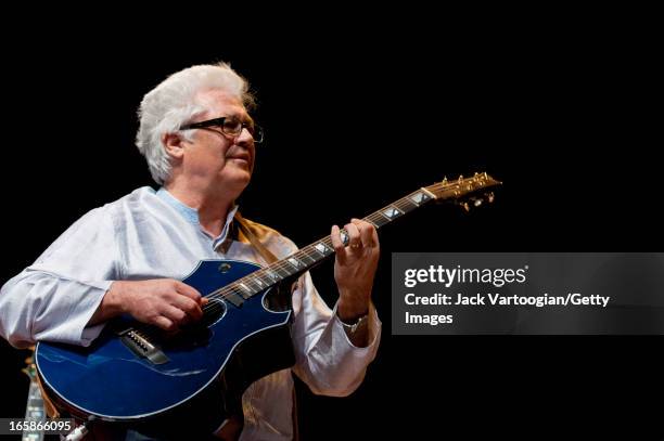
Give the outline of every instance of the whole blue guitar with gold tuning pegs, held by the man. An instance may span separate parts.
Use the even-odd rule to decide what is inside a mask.
[[[491,202],[488,191],[498,184],[486,173],[445,180],[365,220],[381,228],[436,199],[468,210]],[[347,243],[345,231],[342,239]],[[209,434],[229,417],[241,417],[241,397],[253,381],[294,364],[290,290],[279,295],[279,286],[333,254],[327,236],[265,268],[201,261],[182,281],[209,299],[200,323],[166,335],[123,317],[88,348],[39,342],[41,382],[63,414],[82,421],[94,418],[159,437]]]

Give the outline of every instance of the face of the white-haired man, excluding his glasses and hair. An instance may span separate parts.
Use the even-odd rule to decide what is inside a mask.
[[[225,91],[208,90],[199,93],[196,99],[210,111],[196,117],[195,121],[220,117],[251,120],[242,102]],[[184,173],[195,181],[196,186],[242,192],[248,184],[256,151],[254,139],[246,129],[234,137],[216,126],[196,129],[193,141],[184,142]]]

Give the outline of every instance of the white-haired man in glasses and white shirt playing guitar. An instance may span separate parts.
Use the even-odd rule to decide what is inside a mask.
[[[136,190],[88,212],[9,281],[0,293],[2,336],[18,348],[38,340],[89,346],[123,313],[177,332],[199,321],[207,303],[179,282],[200,260],[266,264],[265,252],[233,234],[235,199],[251,180],[263,138],[248,114],[252,104],[247,82],[226,64],[187,68],[148,93],[137,145],[162,187]],[[296,250],[276,231],[246,224],[258,247],[278,258]],[[292,293],[292,371],[314,392],[329,395],[359,386],[380,340],[371,303],[378,235],[357,219],[345,229],[347,246],[336,225],[331,232],[340,295],[334,310],[308,273]],[[291,369],[252,384],[242,400],[241,439],[292,439],[292,397]]]

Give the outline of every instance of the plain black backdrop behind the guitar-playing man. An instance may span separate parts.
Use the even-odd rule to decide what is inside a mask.
[[[388,320],[391,252],[661,249],[656,51],[616,12],[307,22],[257,43],[255,24],[24,29],[5,55],[0,280],[91,208],[154,186],[133,146],[142,95],[224,60],[267,133],[243,213],[301,246],[444,176],[505,182],[490,207],[431,207],[381,232],[378,359],[349,398],[299,389],[303,439],[661,439],[661,337],[393,337]],[[314,278],[332,304],[332,265]],[[25,352],[0,351],[1,416],[17,417]]]

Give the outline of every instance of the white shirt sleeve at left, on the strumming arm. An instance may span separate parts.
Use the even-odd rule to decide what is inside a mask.
[[[103,324],[86,327],[118,277],[113,219],[97,208],[65,231],[0,290],[0,335],[24,348],[38,340],[89,346]]]

